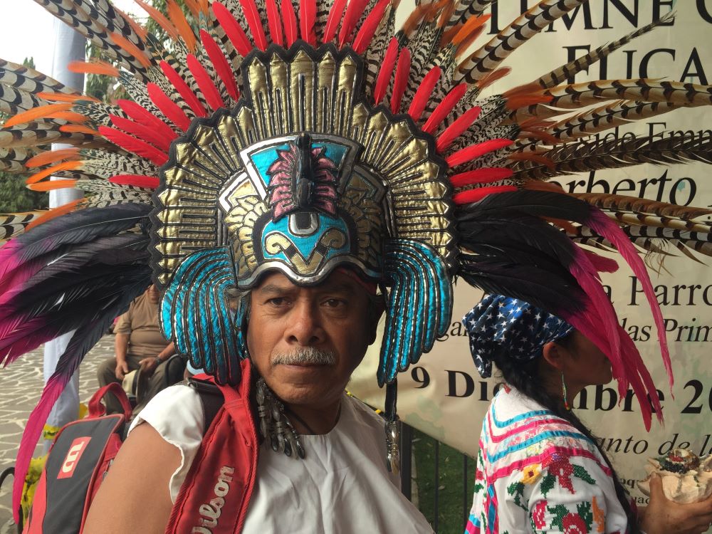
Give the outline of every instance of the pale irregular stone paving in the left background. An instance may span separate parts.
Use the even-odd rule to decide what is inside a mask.
[[[112,356],[114,338],[103,337],[85,357],[80,367],[79,392],[87,402],[98,388],[96,366]],[[42,392],[42,350],[24,355],[14,364],[0,369],[0,470],[12,466],[27,418]],[[38,449],[38,454],[39,454]],[[11,512],[12,478],[0,488],[0,534],[14,534]]]

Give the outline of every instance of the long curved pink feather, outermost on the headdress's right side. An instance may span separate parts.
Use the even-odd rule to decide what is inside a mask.
[[[614,221],[609,219],[603,211],[592,207],[590,219],[585,221],[585,224],[597,234],[610,241],[618,249],[618,252],[628,263],[634,275],[637,276],[638,280],[642,283],[645,296],[648,300],[648,304],[650,305],[655,325],[658,330],[658,342],[660,344],[665,370],[668,375],[670,389],[672,389],[674,377],[672,374],[670,352],[668,350],[665,335],[665,320],[663,319],[663,314],[660,310],[660,306],[658,305],[655,290],[653,289],[653,284],[650,281],[645,264],[640,256],[638,256],[638,252],[628,239],[628,236],[626,236],[620,227],[614,223]]]

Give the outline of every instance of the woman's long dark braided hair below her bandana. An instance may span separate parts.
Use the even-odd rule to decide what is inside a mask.
[[[569,334],[566,337],[556,340],[555,342],[563,345],[565,348],[571,348],[572,339],[572,335]],[[528,362],[523,362],[522,360],[515,360],[514,358],[509,357],[506,353],[499,353],[494,355],[493,360],[495,365],[501,371],[503,379],[509,385],[515,387],[530,399],[535,400],[543,407],[550,410],[550,412],[552,412],[555,416],[565,419],[567,422],[572,424],[575,429],[580,431],[581,434],[592,441],[596,449],[598,449],[601,453],[601,456],[603,456],[607,466],[612,471],[613,486],[616,490],[616,496],[618,497],[618,501],[621,503],[623,511],[628,518],[629,533],[639,534],[640,529],[638,527],[638,518],[630,506],[630,497],[624,490],[622,483],[620,483],[618,475],[613,468],[608,455],[598,445],[596,438],[591,431],[578,417],[576,417],[576,414],[574,414],[571,410],[565,409],[563,397],[551,395],[544,387],[542,387],[543,377],[540,376],[539,372],[539,363],[541,358],[537,357],[533,360],[529,360]]]

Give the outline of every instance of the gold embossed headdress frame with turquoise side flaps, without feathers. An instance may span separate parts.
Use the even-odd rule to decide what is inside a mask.
[[[216,276],[243,289],[268,270],[315,284],[335,266],[350,265],[394,289],[387,324],[393,339],[384,343],[379,371],[381,383],[392,382],[449,323],[454,207],[435,140],[409,115],[368,102],[363,61],[351,48],[271,46],[251,53],[241,72],[236,107],[196,120],[162,168],[152,253],[167,289],[164,324],[186,340],[181,350],[204,352],[206,340],[187,334],[197,326],[189,318],[200,313],[175,295],[199,286],[205,262],[180,266],[206,250],[211,258],[223,251],[225,270]],[[226,360],[233,343],[219,350]],[[197,363],[236,379],[219,371],[236,362],[217,360]]]

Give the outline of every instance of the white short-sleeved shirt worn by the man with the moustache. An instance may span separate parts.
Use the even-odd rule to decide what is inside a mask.
[[[194,389],[164,389],[142,409],[131,430],[147,422],[181,453],[169,486],[175,502],[202,439],[203,412]],[[432,533],[422,513],[386,468],[383,420],[362,402],[343,398],[336,426],[301,436],[306,457],[259,451],[257,478],[243,532]]]

